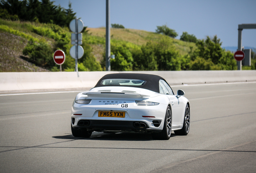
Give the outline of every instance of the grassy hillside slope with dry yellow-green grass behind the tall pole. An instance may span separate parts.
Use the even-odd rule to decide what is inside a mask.
[[[83,33],[83,48],[85,57],[80,59],[79,70],[104,70],[99,64],[105,57],[105,28],[87,28]],[[194,43],[184,42],[178,39],[135,29],[111,28],[111,44],[126,44],[130,47],[141,47],[147,42],[157,42],[163,38],[178,50],[180,55],[188,54],[190,46],[196,47]],[[36,45],[41,42],[47,44],[51,51],[57,48],[66,49],[66,61],[62,69],[66,71],[74,70],[74,59],[69,55],[71,32],[67,27],[60,27],[54,24],[41,24],[38,22],[21,22],[0,19],[0,72],[21,72],[21,71],[58,71],[59,66],[49,62],[45,64],[35,63],[31,56],[24,55],[23,50],[29,42]],[[49,55],[52,59],[52,54]],[[90,60],[89,60],[90,58]],[[52,60],[53,61],[53,60]],[[84,66],[83,64],[89,64]],[[97,66],[93,68],[92,66]]]

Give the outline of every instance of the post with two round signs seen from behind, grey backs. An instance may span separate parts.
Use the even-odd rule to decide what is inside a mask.
[[[77,60],[82,58],[84,54],[84,49],[82,46],[80,46],[82,44],[82,33],[80,32],[84,28],[84,23],[82,20],[75,18],[71,20],[69,28],[72,32],[74,32],[71,34],[71,44],[74,46],[70,48],[70,56],[72,56],[72,58],[76,60],[75,71],[77,72],[77,76],[79,77]]]

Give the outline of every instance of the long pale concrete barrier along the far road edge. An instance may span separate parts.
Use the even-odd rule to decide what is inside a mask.
[[[50,90],[88,90],[109,73],[102,72],[1,72],[0,93],[50,91]],[[130,71],[122,73],[147,73],[162,76],[171,85],[209,84],[223,82],[256,81],[256,70],[232,71]]]

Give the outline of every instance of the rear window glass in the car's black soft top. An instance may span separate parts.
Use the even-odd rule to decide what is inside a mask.
[[[139,79],[104,79],[101,81],[101,85],[111,85],[111,86],[142,86],[146,83],[146,80]]]

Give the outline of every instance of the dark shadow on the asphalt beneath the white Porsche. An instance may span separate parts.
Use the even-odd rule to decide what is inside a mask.
[[[171,137],[175,134],[172,133]],[[93,132],[91,137],[74,137],[72,134],[63,136],[54,136],[56,139],[75,139],[75,140],[99,140],[99,141],[157,141],[152,138],[149,133],[103,133],[103,132]]]

